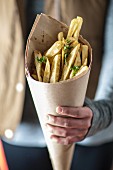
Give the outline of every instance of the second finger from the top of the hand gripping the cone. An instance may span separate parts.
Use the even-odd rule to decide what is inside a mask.
[[[83,118],[83,119],[75,119],[70,117],[57,117],[53,115],[48,115],[49,120],[48,124],[54,125],[54,126],[60,126],[65,128],[79,128],[79,129],[87,129],[91,125],[91,121],[89,118]]]

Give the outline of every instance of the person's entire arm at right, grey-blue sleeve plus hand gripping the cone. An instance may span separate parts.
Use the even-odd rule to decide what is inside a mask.
[[[58,143],[69,144],[83,140],[113,122],[113,1],[109,5],[106,24],[104,60],[96,100],[85,100],[84,107],[62,107],[56,109],[59,116],[48,115],[47,127],[51,138]]]

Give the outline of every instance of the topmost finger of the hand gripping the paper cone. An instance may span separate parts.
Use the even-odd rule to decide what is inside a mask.
[[[75,118],[85,118],[91,117],[92,111],[88,107],[61,107],[56,108],[56,112],[62,115],[75,117]]]

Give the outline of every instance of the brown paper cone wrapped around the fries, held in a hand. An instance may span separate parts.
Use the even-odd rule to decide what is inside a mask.
[[[57,115],[57,106],[82,106],[86,94],[88,78],[91,68],[91,48],[80,37],[83,44],[89,46],[89,70],[79,78],[72,78],[58,83],[43,83],[35,81],[31,76],[32,53],[34,50],[44,52],[56,40],[60,31],[67,34],[68,27],[57,20],[41,14],[37,16],[26,46],[26,75],[33,101],[38,113],[41,127],[45,136],[47,147],[54,170],[70,170],[73,157],[74,144],[61,145],[49,138],[45,127],[45,117],[48,113]]]

